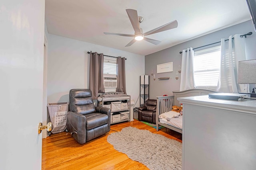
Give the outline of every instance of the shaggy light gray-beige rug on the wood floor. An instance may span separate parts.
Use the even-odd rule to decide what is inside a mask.
[[[182,143],[176,140],[135,127],[111,133],[107,140],[114,149],[150,170],[182,169]]]

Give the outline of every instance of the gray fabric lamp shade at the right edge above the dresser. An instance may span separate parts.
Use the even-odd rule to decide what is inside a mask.
[[[256,84],[256,59],[238,61],[238,83]]]

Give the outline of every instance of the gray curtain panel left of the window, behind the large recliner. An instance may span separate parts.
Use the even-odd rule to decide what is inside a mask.
[[[92,99],[98,98],[98,93],[105,93],[103,81],[103,54],[97,52],[90,53],[90,75],[89,75],[89,89],[92,91]]]

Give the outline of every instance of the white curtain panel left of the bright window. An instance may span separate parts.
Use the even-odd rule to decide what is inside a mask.
[[[180,91],[196,88],[194,81],[194,50],[192,47],[182,51]]]

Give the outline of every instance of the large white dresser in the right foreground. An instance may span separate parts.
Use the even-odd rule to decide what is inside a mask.
[[[183,170],[256,170],[256,100],[178,100]]]

